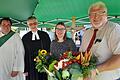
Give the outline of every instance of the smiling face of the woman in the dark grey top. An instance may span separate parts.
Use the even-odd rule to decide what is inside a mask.
[[[60,39],[60,38],[63,39],[64,36],[65,36],[65,33],[66,33],[65,26],[63,26],[63,25],[57,25],[56,26],[55,34],[57,35],[58,39]]]

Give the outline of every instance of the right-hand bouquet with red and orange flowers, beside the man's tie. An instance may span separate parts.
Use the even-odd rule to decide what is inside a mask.
[[[69,51],[63,53],[63,55],[60,57],[60,61],[57,63],[57,67],[55,65],[55,68],[57,70],[62,69],[62,71],[67,69],[71,75],[70,79],[76,80],[77,77],[76,78],[73,77],[78,73],[80,77],[89,76],[91,70],[96,68],[96,61],[97,59],[94,56],[92,56],[91,52],[73,53]]]

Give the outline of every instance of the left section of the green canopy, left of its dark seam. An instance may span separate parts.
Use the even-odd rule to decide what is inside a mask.
[[[0,0],[0,17],[10,17],[13,26],[25,27],[37,4],[38,0]]]

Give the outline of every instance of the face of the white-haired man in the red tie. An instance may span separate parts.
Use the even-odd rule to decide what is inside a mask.
[[[99,28],[107,22],[107,11],[101,6],[94,6],[90,9],[89,18],[94,28]]]

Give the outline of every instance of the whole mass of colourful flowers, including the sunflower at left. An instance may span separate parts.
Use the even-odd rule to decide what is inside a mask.
[[[48,73],[48,80],[83,80],[96,67],[96,58],[91,52],[67,51],[59,60],[55,60],[46,50],[39,50],[34,61],[39,72]]]

